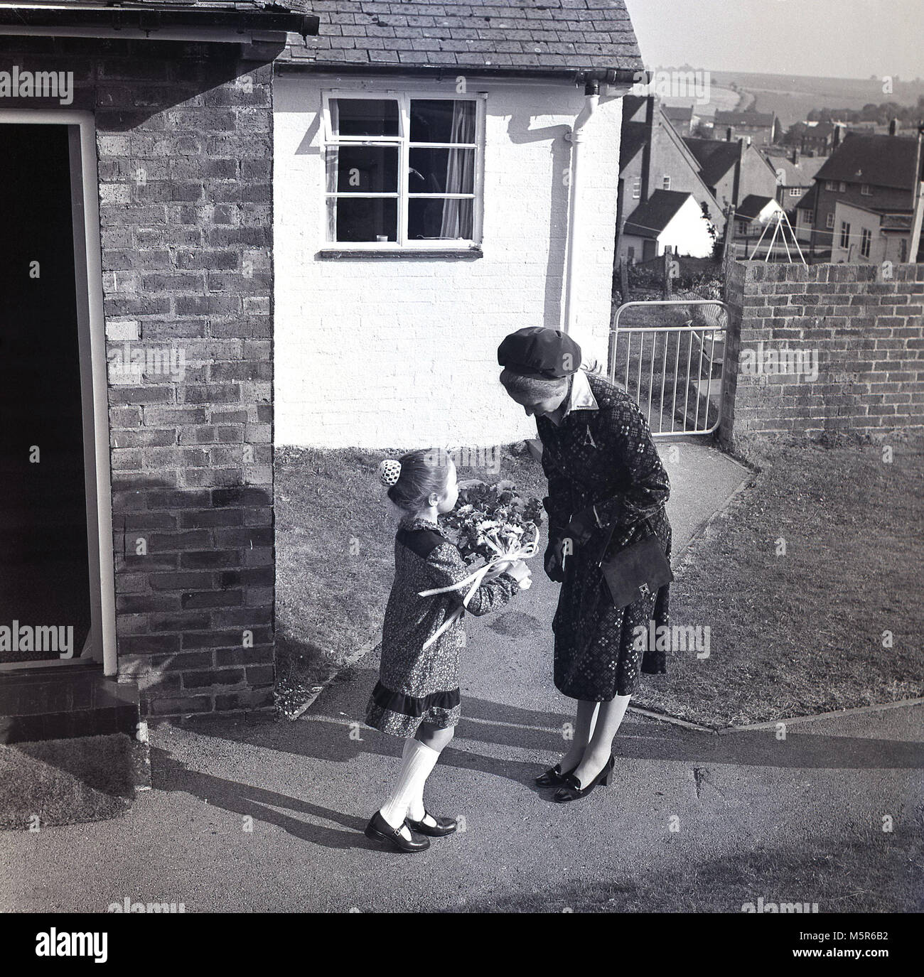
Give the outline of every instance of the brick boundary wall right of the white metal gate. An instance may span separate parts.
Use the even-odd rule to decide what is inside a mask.
[[[724,445],[755,436],[924,435],[924,265],[737,261],[726,301]],[[793,362],[804,374],[773,372],[773,352],[787,348],[805,358]]]

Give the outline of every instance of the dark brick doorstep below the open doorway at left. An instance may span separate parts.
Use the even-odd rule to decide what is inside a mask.
[[[91,659],[0,669],[0,743],[134,738],[140,719],[137,684],[116,682]]]

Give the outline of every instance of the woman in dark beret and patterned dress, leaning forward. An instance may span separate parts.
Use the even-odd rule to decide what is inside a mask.
[[[570,748],[537,784],[557,786],[554,799],[571,801],[608,782],[639,669],[665,671],[664,653],[649,651],[638,628],[647,635],[652,618],[667,625],[667,584],[617,608],[599,563],[652,532],[670,560],[670,482],[638,404],[581,369],[581,349],[569,336],[520,329],[501,344],[498,361],[506,393],[536,417],[549,480],[546,573],[561,583],[554,683],[577,700],[577,714]]]

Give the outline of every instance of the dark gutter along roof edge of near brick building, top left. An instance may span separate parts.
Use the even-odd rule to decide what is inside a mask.
[[[307,40],[318,33],[320,18],[268,10],[241,10],[189,7],[66,6],[22,7],[0,5],[0,33],[29,33],[29,28],[89,28],[134,34],[141,32],[225,31],[236,34],[286,32]],[[6,27],[19,28],[6,30]],[[207,39],[207,38],[206,38]],[[240,40],[240,38],[238,38]]]

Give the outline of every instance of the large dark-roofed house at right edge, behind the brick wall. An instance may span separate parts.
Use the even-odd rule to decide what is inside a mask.
[[[840,248],[845,223],[843,219],[838,223],[838,203],[857,204],[880,214],[915,214],[924,167],[921,139],[920,132],[914,139],[848,133],[814,177],[814,253],[831,252],[836,260],[832,249]],[[919,236],[918,228],[915,239],[908,240],[910,253],[916,254]]]

